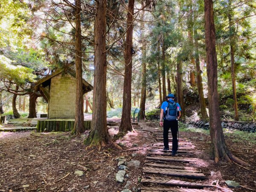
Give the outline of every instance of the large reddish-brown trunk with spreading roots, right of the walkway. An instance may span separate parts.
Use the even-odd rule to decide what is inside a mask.
[[[246,164],[244,161],[239,160],[231,154],[228,150],[224,139],[223,129],[221,127],[221,117],[218,107],[218,63],[215,47],[215,26],[212,0],[204,0],[204,20],[211,136],[210,155],[214,158],[216,163],[223,157],[228,162],[233,160],[237,163]]]

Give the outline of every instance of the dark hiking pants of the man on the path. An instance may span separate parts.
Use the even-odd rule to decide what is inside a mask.
[[[169,148],[169,129],[171,128],[172,131],[172,150],[177,151],[178,150],[178,139],[177,139],[177,131],[178,131],[178,121],[163,121],[163,145],[166,148]]]

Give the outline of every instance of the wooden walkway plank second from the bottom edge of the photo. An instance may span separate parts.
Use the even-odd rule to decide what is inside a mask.
[[[164,177],[157,177],[152,178],[148,176],[143,176],[140,183],[155,183],[155,184],[161,184],[161,185],[168,185],[168,186],[180,186],[180,187],[189,187],[189,188],[197,188],[202,189],[204,187],[212,187],[212,185],[209,184],[203,184],[203,183],[192,183],[188,181],[182,181],[182,180],[175,180],[175,179],[166,179]]]

